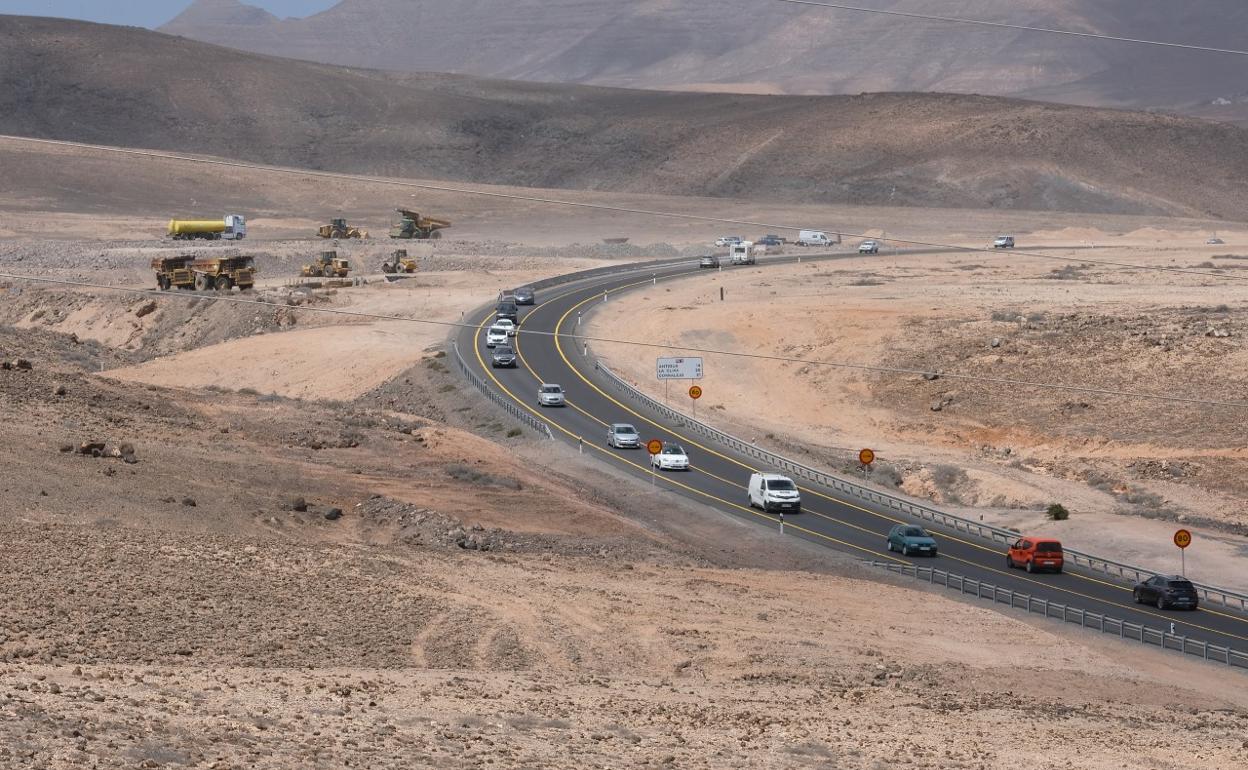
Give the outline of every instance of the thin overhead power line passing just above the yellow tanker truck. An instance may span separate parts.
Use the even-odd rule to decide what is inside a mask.
[[[247,162],[243,162],[243,161],[230,161],[230,160],[221,160],[221,158],[195,157],[195,156],[191,156],[191,155],[177,155],[177,154],[173,154],[173,152],[157,152],[157,151],[154,151],[154,150],[134,150],[134,149],[130,149],[130,147],[111,147],[111,146],[107,146],[107,145],[90,145],[90,144],[85,144],[85,142],[71,142],[71,141],[52,140],[52,139],[35,139],[35,137],[30,137],[30,136],[12,136],[12,135],[2,135],[2,134],[0,134],[0,139],[11,140],[11,141],[21,141],[21,142],[31,142],[31,144],[36,144],[36,145],[51,145],[51,146],[57,146],[57,147],[72,147],[72,149],[76,149],[76,150],[91,150],[91,151],[97,151],[97,152],[114,152],[114,154],[119,154],[119,155],[131,155],[131,156],[147,157],[147,158],[157,158],[157,160],[171,160],[171,161],[181,161],[181,162],[188,162],[188,163],[202,163],[202,165],[207,165],[207,166],[221,166],[221,167],[227,167],[227,168],[246,168],[246,170],[251,170],[251,171],[262,171],[262,172],[266,172],[266,173],[285,173],[285,175],[291,175],[291,176],[310,176],[310,177],[316,177],[316,178],[332,178],[332,180],[339,180],[339,181],[363,182],[363,183],[368,183],[368,185],[383,185],[383,186],[392,186],[392,187],[407,187],[407,188],[412,188],[412,190],[428,190],[431,192],[451,192],[451,193],[457,193],[457,195],[475,195],[475,196],[482,196],[482,197],[504,198],[504,200],[510,200],[510,201],[525,201],[525,202],[529,202],[529,203],[545,203],[545,205],[550,205],[550,206],[568,206],[568,207],[573,207],[573,208],[584,208],[584,210],[593,210],[593,211],[610,211],[610,212],[615,212],[615,213],[635,213],[635,215],[641,215],[641,216],[663,217],[663,218],[669,218],[669,220],[690,220],[690,221],[698,221],[698,222],[715,222],[715,223],[719,223],[719,225],[743,225],[743,226],[748,226],[748,227],[763,227],[763,228],[768,228],[768,230],[785,230],[785,231],[812,230],[812,227],[810,227],[809,225],[780,225],[780,223],[775,223],[775,222],[759,222],[759,221],[754,221],[754,220],[734,220],[734,218],[728,218],[728,217],[713,217],[713,216],[705,216],[705,215],[698,215],[698,213],[680,213],[680,212],[674,212],[674,211],[655,211],[655,210],[650,210],[650,208],[633,208],[633,207],[626,207],[626,206],[610,206],[610,205],[607,205],[607,203],[585,203],[585,202],[582,202],[582,201],[565,201],[565,200],[562,200],[562,198],[550,198],[550,197],[542,197],[542,196],[534,196],[534,195],[518,195],[518,193],[513,193],[513,192],[497,192],[497,191],[490,191],[490,190],[474,190],[474,188],[470,188],[470,187],[452,187],[452,186],[448,186],[448,185],[429,185],[429,183],[426,183],[426,182],[409,182],[409,181],[404,181],[404,180],[391,180],[391,178],[383,178],[383,177],[364,176],[364,175],[358,175],[358,173],[342,173],[342,172],[337,172],[337,171],[312,171],[312,170],[300,170],[300,168],[285,168],[285,167],[281,167],[281,166],[266,166],[266,165],[262,165],[262,163],[247,163]],[[972,252],[972,253],[981,253],[981,252],[982,253],[996,253],[993,251],[993,248],[987,247],[987,246],[960,246],[957,243],[940,243],[940,242],[936,242],[936,241],[919,241],[919,240],[915,240],[915,238],[879,237],[879,236],[869,236],[866,233],[846,232],[846,231],[836,228],[836,227],[824,227],[824,230],[827,231],[827,232],[835,232],[835,233],[837,233],[840,236],[845,236],[845,237],[850,237],[850,238],[871,238],[871,240],[875,240],[875,241],[884,241],[886,243],[902,243],[902,245],[906,245],[906,246],[922,246],[922,247],[926,247],[926,248],[946,248],[946,250],[951,250],[951,251],[965,251],[965,252]],[[1118,261],[1114,261],[1114,260],[1096,260],[1096,258],[1088,258],[1088,257],[1065,257],[1065,256],[1060,256],[1060,255],[1040,253],[1040,252],[1033,252],[1033,251],[1017,251],[1017,250],[1013,250],[1013,251],[1011,251],[1011,253],[1012,253],[1012,256],[1016,256],[1016,257],[1030,257],[1030,258],[1035,258],[1035,260],[1051,260],[1051,261],[1056,261],[1056,262],[1077,262],[1077,263],[1082,263],[1082,265],[1099,265],[1102,267],[1114,267],[1114,268],[1126,268],[1126,270],[1144,270],[1144,271],[1166,272],[1166,273],[1183,273],[1183,275],[1189,275],[1189,276],[1204,276],[1204,277],[1209,277],[1209,278],[1231,278],[1231,280],[1234,280],[1234,281],[1248,281],[1248,276],[1237,276],[1237,275],[1228,275],[1228,273],[1214,273],[1214,272],[1207,272],[1207,271],[1201,271],[1201,270],[1192,270],[1192,268],[1188,268],[1188,267],[1168,267],[1168,266],[1164,266],[1164,265],[1138,265],[1138,263],[1134,263],[1134,262],[1118,262]]]

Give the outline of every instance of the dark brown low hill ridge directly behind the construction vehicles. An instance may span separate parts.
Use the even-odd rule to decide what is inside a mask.
[[[399,76],[14,16],[0,132],[520,186],[1229,218],[1248,178],[1248,131],[1191,119]]]

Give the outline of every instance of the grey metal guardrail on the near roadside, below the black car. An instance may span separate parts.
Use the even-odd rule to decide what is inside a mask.
[[[1172,634],[1164,629],[1151,628],[1101,613],[1050,602],[1025,594],[1022,592],[1001,588],[983,580],[975,580],[935,567],[921,567],[919,564],[895,564],[892,562],[866,562],[870,567],[882,568],[899,575],[912,575],[915,580],[931,585],[943,585],[963,595],[971,594],[980,599],[987,599],[993,604],[1008,604],[1013,609],[1025,609],[1028,614],[1036,613],[1046,618],[1057,618],[1062,623],[1077,623],[1081,628],[1090,628],[1102,634],[1117,635],[1119,639],[1129,639],[1141,644],[1159,646],[1163,650],[1194,655],[1214,663],[1224,663],[1232,668],[1248,669],[1248,653],[1242,653],[1229,646],[1209,644],[1198,639],[1188,639],[1183,634]]]

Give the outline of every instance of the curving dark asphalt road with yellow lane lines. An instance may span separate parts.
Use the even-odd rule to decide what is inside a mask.
[[[804,255],[804,258],[826,260],[846,256],[856,255]],[[790,262],[795,258],[764,258],[760,260],[759,267],[765,270],[768,265]],[[725,265],[724,270],[753,268],[730,268]],[[745,492],[753,472],[774,469],[759,468],[758,461],[738,456],[718,444],[698,441],[693,434],[683,434],[678,427],[665,424],[656,414],[648,414],[640,407],[617,399],[598,379],[600,376],[594,374],[593,359],[583,357],[582,344],[575,339],[578,316],[588,314],[589,308],[602,303],[604,292],[609,297],[610,293],[653,281],[676,278],[693,281],[699,272],[709,271],[699,271],[696,261],[690,261],[648,268],[644,272],[592,278],[538,292],[535,306],[520,308],[520,334],[514,341],[519,353],[519,366],[514,369],[490,367],[490,351],[485,347],[484,328],[494,318],[492,309],[479,311],[474,318],[477,327],[459,333],[459,349],[469,361],[469,366],[479,368],[487,382],[547,422],[557,441],[573,446],[583,441],[583,451],[587,454],[626,469],[641,483],[665,487],[675,494],[753,519],[760,527],[775,529],[776,515],[750,508]],[[610,336],[626,339],[629,331],[612,329]],[[663,353],[656,349],[655,354]],[[714,366],[715,362],[709,363]],[[538,386],[543,382],[559,383],[564,387],[567,407],[538,406]],[[643,443],[659,439],[681,444],[689,454],[691,469],[685,473],[651,473],[649,454],[644,448],[607,447],[607,426],[615,422],[635,426],[641,433]],[[986,580],[1037,598],[1157,629],[1168,630],[1173,623],[1178,634],[1248,653],[1248,618],[1241,614],[1207,607],[1193,613],[1138,605],[1132,600],[1131,585],[1077,568],[1068,567],[1062,574],[1027,574],[1018,569],[1008,569],[1005,553],[998,545],[986,544],[965,533],[942,530],[925,523],[924,525],[938,543],[938,557],[906,558],[890,553],[885,548],[887,530],[896,523],[919,522],[897,518],[895,512],[872,509],[867,504],[846,500],[831,489],[795,480],[802,490],[802,513],[785,517],[786,533],[795,537],[816,540],[864,559],[935,564],[940,569],[967,578]]]

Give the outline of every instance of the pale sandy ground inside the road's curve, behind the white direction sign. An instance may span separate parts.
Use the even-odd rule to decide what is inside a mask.
[[[1192,233],[1161,228],[1121,236],[1066,228],[1022,243],[1094,243],[1094,251],[1050,253],[1193,267],[1212,277],[1000,253],[850,255],[646,288],[597,307],[590,329],[615,339],[661,339],[674,351],[1238,401],[1248,371],[1239,260],[1219,255],[1243,252],[1248,238],[1222,235],[1226,245],[1206,246]],[[594,348],[663,396],[654,351]],[[1192,377],[1194,371],[1203,373]],[[880,483],[1108,557],[1177,572],[1174,522],[1197,525],[1188,574],[1248,589],[1248,539],[1239,537],[1248,534],[1248,488],[1238,423],[1224,408],[716,356],[708,356],[701,384],[699,414],[746,438],[846,472],[856,470],[859,448],[872,447],[882,461]],[[673,393],[688,408],[684,388]],[[1052,502],[1072,518],[1047,522],[1041,512]]]

